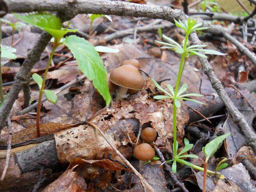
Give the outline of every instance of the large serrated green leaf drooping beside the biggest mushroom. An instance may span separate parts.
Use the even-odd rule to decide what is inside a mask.
[[[79,69],[92,81],[94,87],[103,96],[106,104],[110,104],[111,96],[108,90],[106,68],[94,46],[84,38],[75,35],[66,37],[64,44],[76,58]]]

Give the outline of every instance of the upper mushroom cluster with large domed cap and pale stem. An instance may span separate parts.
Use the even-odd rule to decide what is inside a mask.
[[[116,91],[116,102],[123,100],[127,94],[135,94],[144,86],[144,78],[138,70],[140,63],[136,59],[125,60],[121,66],[108,74],[110,93]]]

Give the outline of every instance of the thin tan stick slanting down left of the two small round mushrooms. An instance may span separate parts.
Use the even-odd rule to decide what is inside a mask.
[[[110,142],[108,141],[108,138],[106,138],[105,134],[100,130],[100,128],[98,128],[98,126],[96,126],[94,123],[92,122],[87,122],[88,125],[94,127],[96,130],[98,130],[102,136],[104,137],[104,139],[106,140],[106,142],[108,142],[108,144],[114,149],[114,151],[118,154],[118,156],[126,163],[126,165],[128,167],[130,167],[132,169],[132,171],[134,172],[134,174],[136,176],[138,176],[138,178],[140,179],[140,182],[142,184],[142,186],[144,188],[147,188],[150,192],[154,192],[154,189],[152,188],[152,186],[150,186],[150,184],[148,184],[148,182],[142,177],[142,175],[132,166],[132,164],[130,164],[130,162],[128,160],[126,160],[126,158],[118,151],[118,149]]]

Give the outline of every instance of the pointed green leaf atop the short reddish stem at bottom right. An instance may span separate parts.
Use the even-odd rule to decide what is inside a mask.
[[[216,152],[218,146],[222,143],[222,141],[230,134],[231,133],[218,136],[217,138],[206,144],[206,146],[203,147],[203,153],[206,156],[206,158],[210,158],[210,156],[212,156]]]

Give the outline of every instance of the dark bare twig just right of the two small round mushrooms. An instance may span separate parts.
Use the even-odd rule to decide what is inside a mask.
[[[170,165],[168,165],[164,159],[164,156],[162,154],[162,152],[160,151],[160,149],[157,147],[157,146],[154,146],[154,149],[155,151],[157,152],[159,158],[160,158],[160,161],[164,163],[164,166],[166,168],[166,170],[169,172],[171,178],[172,178],[172,181],[174,182],[174,185],[179,187],[180,189],[182,189],[184,192],[188,192],[188,190],[186,189],[186,187],[184,186],[184,183],[180,182],[178,180],[178,178],[176,177],[176,175],[172,172],[172,169],[170,167]]]

